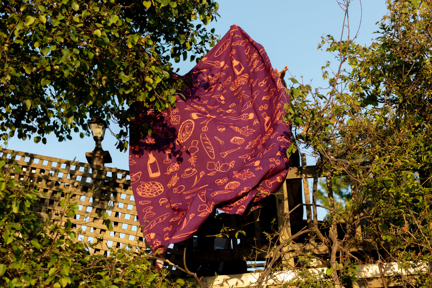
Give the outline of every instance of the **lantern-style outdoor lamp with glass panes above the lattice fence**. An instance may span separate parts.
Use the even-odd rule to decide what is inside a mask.
[[[95,140],[95,149],[92,152],[86,152],[87,162],[94,165],[104,166],[105,163],[112,163],[109,151],[102,149],[102,140],[105,136],[105,129],[108,127],[105,120],[100,116],[93,116],[87,121],[90,130],[92,131],[93,139]]]

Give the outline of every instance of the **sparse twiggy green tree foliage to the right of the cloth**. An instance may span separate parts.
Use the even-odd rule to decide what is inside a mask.
[[[349,2],[340,3],[346,17]],[[315,229],[331,250],[342,249],[330,257],[336,285],[341,271],[335,263],[349,264],[351,247],[374,250],[354,258],[361,263],[415,266],[432,255],[432,4],[387,5],[372,44],[353,41],[349,31],[357,29],[347,18],[343,37],[322,38],[318,49],[337,60],[336,68],[330,62],[322,67],[326,89],[294,78],[287,89],[286,120],[296,128],[299,148],[313,149],[322,176],[346,175],[350,183],[351,202],[328,220],[343,222],[346,234],[337,239]],[[420,277],[419,287],[429,285],[430,275]]]

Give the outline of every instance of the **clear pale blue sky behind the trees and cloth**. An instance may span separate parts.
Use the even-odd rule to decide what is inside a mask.
[[[304,82],[311,82],[312,87],[324,86],[321,76],[321,66],[326,60],[336,64],[333,55],[317,50],[321,36],[327,34],[340,37],[343,23],[343,10],[336,0],[219,0],[219,15],[217,22],[211,22],[208,27],[215,28],[221,37],[233,24],[243,28],[255,41],[262,44],[270,57],[273,67],[282,69],[286,65],[289,72],[298,79],[303,76]],[[358,44],[370,44],[376,36],[372,32],[378,27],[379,21],[386,13],[384,1],[362,1],[362,23],[359,30]],[[349,6],[349,24],[354,35],[359,27],[360,5],[353,1]],[[346,31],[346,28],[345,28]],[[187,73],[195,63],[173,63],[179,74]],[[118,127],[112,126],[116,132]],[[62,159],[86,162],[85,152],[92,151],[94,141],[88,137],[80,139],[73,135],[73,140],[58,142],[53,135],[48,135],[46,145],[33,139],[22,141],[13,138],[7,149],[31,152]],[[128,154],[115,149],[116,139],[109,131],[105,134],[102,147],[109,150],[113,163],[110,167],[128,170]],[[311,165],[311,161],[308,161]]]

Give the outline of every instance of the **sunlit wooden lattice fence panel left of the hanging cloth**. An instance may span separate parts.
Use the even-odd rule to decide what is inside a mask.
[[[13,165],[6,165],[11,177],[39,191],[39,203],[33,206],[33,212],[41,221],[49,218],[64,224],[60,202],[67,191],[73,191],[70,201],[78,204],[78,212],[69,219],[77,241],[95,244],[89,248],[90,253],[108,254],[119,248],[151,251],[140,228],[129,171],[9,149],[0,150],[0,157],[13,159],[21,168],[18,173]],[[107,229],[105,219],[111,221],[112,231]],[[181,264],[182,251],[176,248],[168,249],[167,256]]]

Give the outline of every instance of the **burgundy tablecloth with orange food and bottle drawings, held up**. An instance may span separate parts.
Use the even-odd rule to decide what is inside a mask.
[[[264,48],[233,25],[189,73],[176,108],[130,126],[130,178],[149,245],[191,237],[213,209],[243,214],[289,169],[289,101]]]

